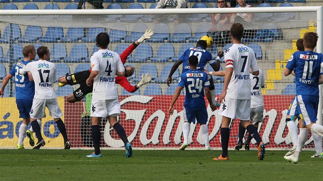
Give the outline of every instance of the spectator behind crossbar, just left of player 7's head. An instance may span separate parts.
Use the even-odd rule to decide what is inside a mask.
[[[227,0],[218,0],[217,8],[230,8],[227,5]],[[230,25],[234,21],[232,14],[212,14],[211,15],[212,27],[209,30],[213,38],[213,42],[219,46],[224,46],[229,43],[230,39]]]

